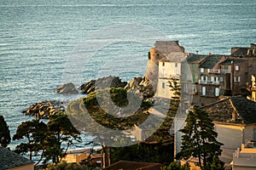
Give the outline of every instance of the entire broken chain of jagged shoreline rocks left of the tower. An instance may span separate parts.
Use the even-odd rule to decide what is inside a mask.
[[[90,82],[85,82],[79,88],[76,88],[72,82],[65,83],[55,90],[57,94],[90,94],[96,89],[101,88],[125,88],[127,93],[140,94],[141,99],[150,99],[154,96],[154,87],[146,77],[134,77],[130,82],[122,82],[119,77],[102,77]],[[48,119],[49,116],[65,112],[65,106],[68,101],[50,100],[41,101],[31,105],[22,113],[26,116],[35,116]]]

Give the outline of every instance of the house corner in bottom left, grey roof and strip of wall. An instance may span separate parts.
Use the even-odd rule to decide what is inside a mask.
[[[34,162],[0,146],[0,169],[34,170]]]

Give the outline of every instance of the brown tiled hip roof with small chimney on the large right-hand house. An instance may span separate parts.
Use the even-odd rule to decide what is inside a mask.
[[[215,122],[256,123],[256,102],[240,96],[202,106],[201,110],[207,111]],[[236,120],[232,120],[233,113],[236,113]]]

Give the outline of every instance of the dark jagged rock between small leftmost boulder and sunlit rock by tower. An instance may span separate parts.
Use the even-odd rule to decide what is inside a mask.
[[[80,93],[90,94],[91,92],[94,92],[95,89],[101,88],[125,88],[126,84],[127,82],[122,82],[119,77],[103,77],[84,83],[80,87]]]

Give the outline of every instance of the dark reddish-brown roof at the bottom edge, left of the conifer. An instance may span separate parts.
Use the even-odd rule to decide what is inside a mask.
[[[118,161],[105,168],[105,170],[160,170],[160,167],[164,167],[164,165],[140,161]]]

